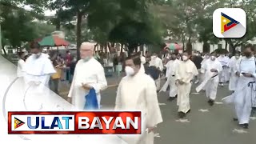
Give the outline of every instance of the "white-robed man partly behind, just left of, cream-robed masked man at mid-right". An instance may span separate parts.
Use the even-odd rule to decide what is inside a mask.
[[[170,61],[167,62],[166,66],[168,67],[166,71],[166,77],[167,81],[166,83],[162,86],[162,89],[160,91],[166,91],[167,87],[170,86],[170,91],[169,91],[169,100],[173,101],[175,98],[177,98],[178,94],[178,89],[176,86],[176,80],[175,80],[175,71],[178,67],[178,63],[180,61],[177,59],[176,54],[171,54]]]

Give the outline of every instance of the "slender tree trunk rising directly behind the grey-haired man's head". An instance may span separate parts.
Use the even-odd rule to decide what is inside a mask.
[[[81,46],[81,26],[82,26],[82,13],[78,10],[77,13],[77,58],[80,59],[80,46]]]

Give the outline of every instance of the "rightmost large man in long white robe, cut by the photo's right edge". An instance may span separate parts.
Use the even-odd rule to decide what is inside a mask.
[[[255,102],[255,78],[256,78],[256,66],[255,58],[253,56],[253,47],[246,46],[244,51],[245,57],[241,58],[236,71],[238,78],[238,84],[234,91],[234,94],[230,95],[225,100],[234,102],[237,118],[234,121],[239,122],[239,125],[247,129],[249,126],[250,113],[252,107],[256,105]]]

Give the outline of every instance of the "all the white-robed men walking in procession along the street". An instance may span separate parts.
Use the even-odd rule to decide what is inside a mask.
[[[47,87],[50,76],[56,73],[54,66],[50,59],[42,54],[41,46],[38,43],[32,43],[30,48],[32,55],[23,63],[22,70],[18,70],[18,76],[24,77],[26,84],[32,83],[35,86]],[[170,99],[177,98],[179,118],[186,117],[186,114],[190,112],[192,81],[198,74],[201,75],[202,82],[196,90],[206,90],[210,106],[214,105],[218,83],[221,82],[222,85],[227,77],[226,73],[230,74],[229,87],[230,90],[234,90],[234,93],[224,100],[234,102],[237,114],[237,118],[234,120],[238,120],[242,127],[248,128],[251,109],[256,105],[254,101],[256,66],[253,52],[252,46],[246,46],[244,56],[236,54],[230,62],[225,62],[225,56],[217,57],[215,52],[206,54],[201,70],[198,70],[194,62],[190,60],[191,55],[188,52],[184,51],[180,58],[177,58],[177,54],[170,54],[168,56],[170,61],[165,65],[166,83],[162,89],[161,75],[159,74],[158,78],[151,78],[150,74],[146,74],[145,67],[146,64],[149,64],[158,71],[162,71],[164,66],[161,58],[158,58],[156,54],[153,54],[150,59],[144,58],[140,54],[128,56],[125,61],[126,76],[118,85],[115,110],[141,110],[143,118],[145,118],[145,131],[147,132],[142,137],[124,138],[126,142],[139,144],[154,142],[153,130],[158,123],[162,122],[162,114],[158,106],[158,91],[166,91],[169,87]],[[100,108],[100,91],[107,87],[104,69],[93,57],[94,44],[83,42],[80,53],[81,59],[74,70],[68,100],[79,110],[84,110],[85,95],[90,90],[95,90],[98,108]]]

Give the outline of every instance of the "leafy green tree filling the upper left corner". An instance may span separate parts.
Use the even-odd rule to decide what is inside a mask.
[[[22,43],[29,42],[35,37],[34,19],[43,18],[43,8],[47,1],[38,0],[1,0],[0,18],[2,26],[3,46],[9,44],[13,47],[22,46]],[[21,6],[29,5],[31,10],[24,10]],[[5,54],[6,51],[4,50]]]

